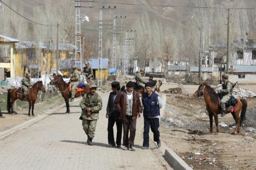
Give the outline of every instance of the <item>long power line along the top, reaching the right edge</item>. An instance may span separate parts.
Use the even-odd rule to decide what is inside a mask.
[[[76,2],[87,2],[86,0],[77,0]],[[123,5],[138,5],[138,6],[159,6],[159,7],[174,7],[174,8],[208,8],[208,9],[228,9],[228,7],[199,7],[199,6],[174,6],[174,5],[150,5],[150,4],[133,4],[133,3],[121,3],[121,2],[101,2],[101,1],[94,1],[94,3],[108,3],[108,4],[123,4]],[[256,8],[229,8],[229,9],[236,9],[236,10],[256,10]]]

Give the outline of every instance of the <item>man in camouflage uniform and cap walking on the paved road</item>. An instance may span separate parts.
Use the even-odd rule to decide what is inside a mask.
[[[93,145],[92,139],[94,138],[97,119],[99,119],[99,111],[102,109],[102,99],[96,93],[96,89],[96,85],[90,85],[90,93],[84,95],[80,102],[82,108],[80,119],[82,119],[82,126],[87,135],[88,145]]]

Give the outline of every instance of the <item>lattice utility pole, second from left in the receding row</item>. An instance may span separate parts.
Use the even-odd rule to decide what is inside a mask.
[[[111,22],[112,20],[102,20],[102,10],[114,10],[116,9],[116,6],[114,8],[111,8],[108,6],[108,8],[105,8],[102,6],[100,8],[100,24],[99,24],[99,51],[98,51],[98,79],[97,79],[97,86],[102,86],[102,29],[111,29],[112,24],[102,24],[103,21],[109,21]],[[103,28],[103,25],[109,25],[110,28]]]

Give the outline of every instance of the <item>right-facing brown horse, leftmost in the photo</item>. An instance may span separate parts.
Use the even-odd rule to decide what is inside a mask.
[[[26,99],[29,102],[28,116],[30,116],[31,106],[32,106],[32,115],[34,116],[34,104],[36,102],[36,98],[39,90],[42,90],[42,92],[45,93],[45,88],[42,81],[36,82],[31,88],[28,89],[28,94],[26,95]],[[23,100],[23,94],[20,91],[20,88],[10,88],[7,94],[8,113],[14,113],[12,109],[12,105],[17,99]]]

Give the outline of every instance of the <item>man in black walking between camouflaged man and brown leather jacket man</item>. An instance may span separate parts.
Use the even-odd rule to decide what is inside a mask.
[[[107,113],[106,118],[108,118],[108,147],[121,147],[121,139],[122,139],[122,120],[118,119],[120,113],[114,107],[114,101],[116,96],[120,93],[120,84],[119,82],[112,82],[111,83],[112,91],[108,97],[108,106],[107,106]],[[114,130],[113,126],[116,122],[116,144],[114,139]]]

